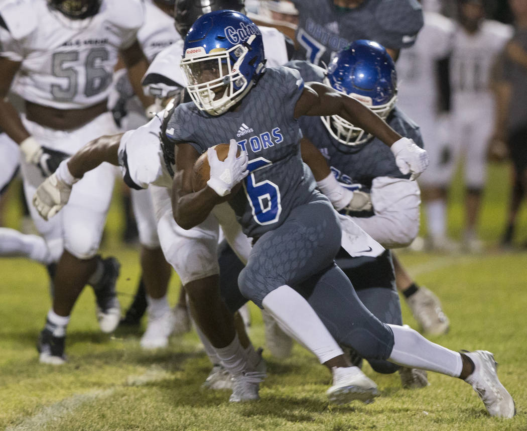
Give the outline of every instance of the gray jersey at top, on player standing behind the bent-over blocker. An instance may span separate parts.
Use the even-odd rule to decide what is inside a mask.
[[[296,59],[329,64],[331,56],[357,39],[392,49],[411,46],[423,26],[417,0],[364,0],[352,9],[333,0],[292,0],[298,9]]]

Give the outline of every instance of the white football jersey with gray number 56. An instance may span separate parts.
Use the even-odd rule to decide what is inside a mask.
[[[141,0],[103,0],[99,13],[70,20],[46,0],[0,6],[9,31],[0,31],[1,56],[21,62],[12,91],[30,102],[80,109],[108,97],[119,51],[143,24]]]

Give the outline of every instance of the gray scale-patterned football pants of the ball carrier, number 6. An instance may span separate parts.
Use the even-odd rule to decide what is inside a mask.
[[[238,278],[240,292],[261,307],[269,292],[287,284],[308,300],[339,344],[368,360],[387,359],[392,330],[360,302],[335,265],[340,240],[338,219],[326,200],[295,208],[256,242]]]

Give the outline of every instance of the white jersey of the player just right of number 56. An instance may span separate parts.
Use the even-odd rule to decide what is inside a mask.
[[[164,13],[152,0],[145,0],[144,24],[137,33],[137,39],[148,61],[174,42],[181,40],[175,30],[174,18]]]

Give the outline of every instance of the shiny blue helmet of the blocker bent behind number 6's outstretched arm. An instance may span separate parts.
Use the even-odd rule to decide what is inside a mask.
[[[382,45],[357,40],[329,63],[324,83],[365,104],[385,120],[397,100],[397,73],[391,56]],[[321,117],[338,142],[354,146],[372,136],[338,115]]]

